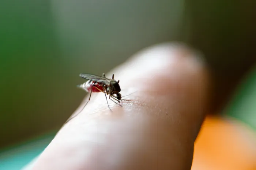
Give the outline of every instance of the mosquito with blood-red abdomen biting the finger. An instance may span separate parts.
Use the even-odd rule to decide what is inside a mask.
[[[117,102],[115,103],[118,104],[119,106],[122,106],[121,104],[119,104],[120,100],[125,100],[125,99],[121,99],[122,95],[120,94],[121,88],[119,86],[119,80],[116,81],[114,79],[114,74],[112,75],[112,79],[106,78],[104,73],[102,74],[102,76],[97,76],[97,75],[87,74],[87,73],[81,73],[79,76],[84,79],[87,79],[88,81],[78,85],[78,87],[84,89],[87,92],[90,92],[89,100],[86,102],[84,107],[90,101],[92,92],[103,92],[105,94],[108,107],[109,107],[109,103],[108,103],[107,95],[109,95],[110,100],[112,100],[113,102],[115,102],[114,100],[116,100],[118,103]],[[84,109],[84,107],[82,108],[82,110]],[[110,107],[109,109],[111,110]],[[74,117],[75,116],[69,118],[65,123],[67,123],[69,120],[71,120]]]

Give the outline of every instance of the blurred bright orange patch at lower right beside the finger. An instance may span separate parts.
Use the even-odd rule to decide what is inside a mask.
[[[230,118],[209,116],[195,142],[192,170],[256,170],[256,134]]]

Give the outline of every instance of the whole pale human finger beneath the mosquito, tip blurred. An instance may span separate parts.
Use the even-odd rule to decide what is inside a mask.
[[[200,54],[160,44],[106,74],[120,80],[123,107],[87,95],[33,170],[190,170],[193,144],[208,109],[209,75]],[[82,84],[82,83],[81,83]],[[74,116],[72,115],[72,116]]]

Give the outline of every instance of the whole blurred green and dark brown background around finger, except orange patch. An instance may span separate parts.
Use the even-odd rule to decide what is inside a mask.
[[[84,98],[81,72],[101,75],[165,41],[204,53],[211,114],[255,130],[255,9],[251,0],[1,0],[0,169],[47,146]]]

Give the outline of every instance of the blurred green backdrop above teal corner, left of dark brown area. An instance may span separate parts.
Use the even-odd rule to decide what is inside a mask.
[[[85,95],[81,72],[101,75],[172,39],[182,9],[179,0],[1,1],[0,147],[59,128]]]

